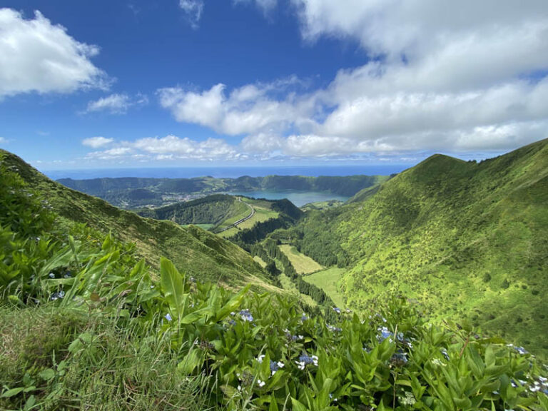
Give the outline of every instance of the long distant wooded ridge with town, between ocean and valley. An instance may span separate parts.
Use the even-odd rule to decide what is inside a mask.
[[[59,183],[73,190],[103,198],[124,208],[165,205],[184,196],[205,196],[230,191],[295,190],[321,191],[353,196],[363,188],[385,181],[387,176],[265,176],[239,178],[61,178]]]

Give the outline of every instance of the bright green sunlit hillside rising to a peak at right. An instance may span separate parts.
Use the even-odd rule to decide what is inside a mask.
[[[481,163],[432,156],[275,235],[347,266],[352,308],[401,293],[548,354],[547,140]]]

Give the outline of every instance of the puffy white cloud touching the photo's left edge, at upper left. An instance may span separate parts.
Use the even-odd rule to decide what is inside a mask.
[[[106,74],[91,63],[97,46],[81,43],[39,11],[26,20],[0,9],[0,98],[19,93],[71,93],[106,88]]]

